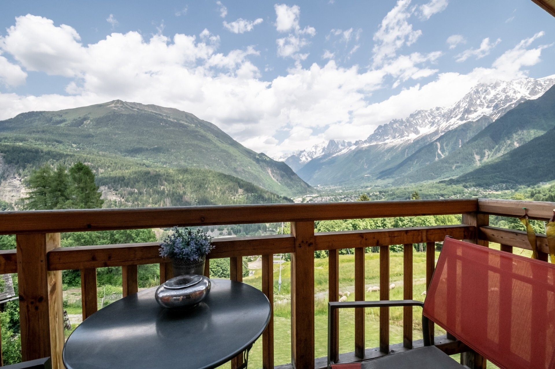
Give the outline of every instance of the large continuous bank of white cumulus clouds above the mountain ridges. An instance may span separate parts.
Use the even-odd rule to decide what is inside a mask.
[[[295,25],[289,29],[284,37],[296,35]],[[324,139],[360,139],[416,109],[452,104],[480,81],[526,76],[524,69],[538,63],[547,47],[533,47],[542,35],[506,50],[490,68],[467,74],[438,73],[433,65],[441,53],[432,52],[388,58],[377,69],[344,68],[334,60],[307,68],[296,64],[265,80],[253,64],[259,58],[255,47],[220,52],[219,36],[208,29],[172,37],[114,32],[84,44],[69,25],[28,15],[0,36],[0,80],[21,84],[33,70],[70,82],[66,94],[0,93],[0,119],[122,99],[189,111],[253,150],[278,155]],[[387,78],[420,84],[369,103]]]

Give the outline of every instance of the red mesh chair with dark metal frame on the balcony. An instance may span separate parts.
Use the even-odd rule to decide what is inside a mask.
[[[341,307],[418,305],[412,300],[355,303],[361,304],[330,303],[330,317]],[[553,264],[446,238],[422,316],[425,347],[364,362],[362,369],[463,367],[430,346],[426,319],[500,368],[555,369]],[[328,361],[334,369],[346,369]]]

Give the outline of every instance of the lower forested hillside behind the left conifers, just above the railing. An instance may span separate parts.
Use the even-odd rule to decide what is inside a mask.
[[[223,173],[199,168],[153,166],[117,155],[67,152],[24,143],[0,143],[0,177],[6,168],[26,178],[44,163],[87,163],[106,207],[279,203],[291,200]]]

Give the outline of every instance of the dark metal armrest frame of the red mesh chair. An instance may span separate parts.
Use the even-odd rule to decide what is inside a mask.
[[[327,367],[330,369],[331,364],[331,342],[334,339],[334,330],[332,327],[335,323],[334,312],[337,309],[347,307],[391,307],[391,306],[420,306],[424,307],[422,301],[417,300],[379,300],[379,301],[332,301],[327,303]],[[422,338],[424,346],[431,346],[430,320],[422,314]]]

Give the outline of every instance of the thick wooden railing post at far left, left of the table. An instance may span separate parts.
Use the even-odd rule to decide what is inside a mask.
[[[23,361],[50,356],[63,368],[62,271],[48,271],[47,253],[60,247],[59,233],[18,234],[17,276]]]

